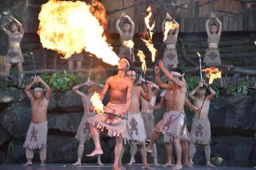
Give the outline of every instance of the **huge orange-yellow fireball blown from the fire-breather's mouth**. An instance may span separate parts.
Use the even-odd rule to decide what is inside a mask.
[[[49,0],[43,4],[38,17],[42,45],[64,54],[64,59],[84,48],[103,62],[117,65],[119,57],[102,35],[104,29],[90,12],[91,7],[81,1]]]

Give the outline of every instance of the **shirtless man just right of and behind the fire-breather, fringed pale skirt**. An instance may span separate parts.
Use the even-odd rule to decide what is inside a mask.
[[[126,75],[133,81],[136,81],[136,72],[134,70],[127,71]],[[140,156],[142,158],[142,169],[152,170],[154,168],[147,164],[147,149],[146,149],[146,130],[143,117],[140,113],[140,96],[146,101],[151,101],[152,82],[148,83],[148,94],[145,94],[142,87],[134,85],[133,95],[131,99],[131,107],[128,109],[128,120],[125,128],[125,143],[131,143],[131,156],[134,157],[132,145],[139,145]],[[136,150],[137,151],[137,150]],[[130,164],[128,164],[130,165]]]

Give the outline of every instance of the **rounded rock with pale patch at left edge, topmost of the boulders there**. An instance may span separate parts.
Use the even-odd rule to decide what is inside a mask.
[[[0,91],[0,110],[15,102],[29,101],[23,90],[10,87],[6,91]]]

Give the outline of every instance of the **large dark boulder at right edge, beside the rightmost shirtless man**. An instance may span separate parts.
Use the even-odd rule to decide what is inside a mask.
[[[219,97],[214,114],[209,115],[212,128],[247,130],[256,125],[256,97]]]

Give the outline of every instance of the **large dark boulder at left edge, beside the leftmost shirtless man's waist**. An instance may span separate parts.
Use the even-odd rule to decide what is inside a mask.
[[[31,107],[17,105],[8,107],[0,114],[0,124],[11,136],[25,140],[31,123]]]

